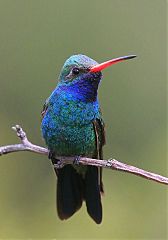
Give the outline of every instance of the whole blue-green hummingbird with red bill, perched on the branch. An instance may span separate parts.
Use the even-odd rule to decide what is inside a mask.
[[[105,125],[98,102],[102,70],[136,55],[122,56],[98,64],[83,54],[69,57],[60,72],[58,84],[43,106],[41,130],[52,163],[56,156],[85,156],[103,159]],[[102,222],[102,168],[65,165],[57,175],[57,213],[68,219],[82,206],[89,216]]]

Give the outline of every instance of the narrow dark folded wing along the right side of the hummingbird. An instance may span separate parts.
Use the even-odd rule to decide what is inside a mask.
[[[106,143],[105,139],[105,126],[102,118],[96,118],[93,121],[95,136],[96,136],[96,153],[95,158],[103,159],[103,145]],[[102,181],[102,168],[99,168],[99,186],[101,193],[104,193],[103,181]]]

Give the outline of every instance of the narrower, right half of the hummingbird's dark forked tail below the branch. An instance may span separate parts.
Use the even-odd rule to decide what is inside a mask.
[[[101,186],[103,191],[103,187]],[[87,212],[96,223],[102,221],[102,204],[100,196],[98,168],[88,166],[85,175],[85,200]]]

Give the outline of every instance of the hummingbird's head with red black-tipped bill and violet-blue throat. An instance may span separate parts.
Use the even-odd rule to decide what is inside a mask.
[[[97,89],[102,78],[102,70],[112,64],[136,57],[129,55],[115,58],[98,64],[95,60],[82,55],[73,55],[68,58],[59,76],[59,86],[71,91],[78,98],[94,101]]]

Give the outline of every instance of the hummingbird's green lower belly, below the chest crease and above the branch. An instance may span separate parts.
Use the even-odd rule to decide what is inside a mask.
[[[95,152],[93,124],[68,125],[43,119],[42,132],[48,148],[57,155],[83,155],[92,157]]]

